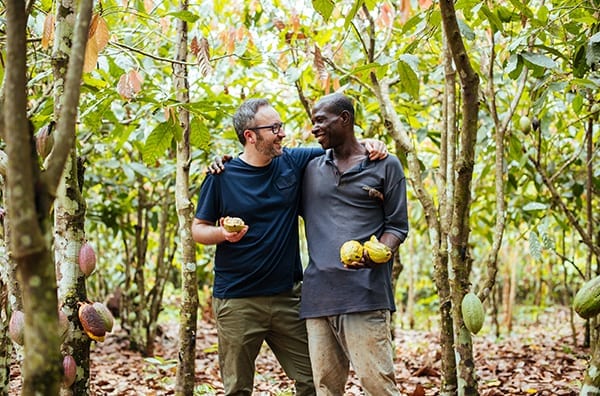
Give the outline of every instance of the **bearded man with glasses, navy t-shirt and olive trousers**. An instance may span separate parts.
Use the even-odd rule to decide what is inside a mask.
[[[221,174],[206,176],[192,225],[196,242],[217,245],[213,310],[225,394],[252,394],[254,362],[266,341],[295,381],[296,395],[314,395],[306,327],[299,316],[298,213],[304,168],[324,151],[283,148],[283,123],[264,99],[244,102],[233,125],[243,152]],[[370,143],[365,147],[372,148]],[[377,148],[373,159],[387,155],[383,144]],[[239,217],[246,226],[228,232],[226,216]]]

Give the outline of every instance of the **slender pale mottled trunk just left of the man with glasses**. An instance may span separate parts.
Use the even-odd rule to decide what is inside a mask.
[[[181,1],[181,10],[188,8],[187,0]],[[177,21],[177,54],[181,61],[173,65],[173,79],[177,90],[177,101],[189,103],[189,85],[187,67],[188,34],[187,23]],[[194,207],[189,193],[190,172],[190,115],[181,106],[178,111],[179,122],[183,128],[181,140],[177,143],[177,180],[175,207],[179,219],[179,239],[181,240],[182,271],[182,307],[179,320],[179,364],[177,366],[177,395],[191,395],[195,384],[196,358],[196,322],[198,320],[198,280],[196,275],[196,245],[192,239],[192,220]]]

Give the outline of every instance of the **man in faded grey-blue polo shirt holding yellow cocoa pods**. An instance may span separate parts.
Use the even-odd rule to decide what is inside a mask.
[[[366,395],[399,395],[390,323],[396,309],[393,259],[376,264],[365,254],[347,268],[340,247],[374,235],[396,252],[408,234],[402,166],[392,155],[369,159],[354,135],[354,108],[347,96],[321,98],[311,120],[326,152],[304,172],[309,264],[300,314],[306,319],[317,394],[342,396],[352,365]]]

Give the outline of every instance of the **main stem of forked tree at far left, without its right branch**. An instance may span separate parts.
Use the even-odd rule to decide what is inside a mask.
[[[8,154],[7,206],[11,224],[10,255],[23,286],[25,313],[24,395],[58,393],[59,353],[56,279],[49,249],[51,230],[46,206],[49,197],[39,188],[39,168],[33,131],[27,119],[26,25],[22,1],[6,2],[7,55],[4,103]]]

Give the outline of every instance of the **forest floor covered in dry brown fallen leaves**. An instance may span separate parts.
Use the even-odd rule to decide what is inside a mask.
[[[531,319],[531,318],[530,318]],[[479,394],[578,395],[587,367],[589,349],[583,343],[583,321],[575,319],[574,342],[569,311],[546,309],[536,318],[521,320],[510,334],[496,337],[489,324],[473,337]],[[91,395],[148,396],[175,394],[177,324],[163,325],[156,356],[145,358],[128,350],[120,327],[91,350]],[[487,332],[486,332],[487,331]],[[198,323],[195,395],[222,395],[216,350],[216,330],[207,320]],[[397,328],[396,379],[403,395],[437,395],[440,386],[440,347],[435,330]],[[18,368],[11,371],[11,393],[20,388]],[[254,395],[287,396],[293,384],[281,370],[268,347],[256,362]],[[354,375],[348,379],[346,395],[361,395]]]

